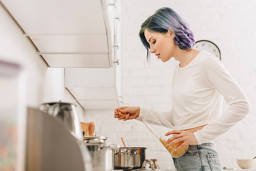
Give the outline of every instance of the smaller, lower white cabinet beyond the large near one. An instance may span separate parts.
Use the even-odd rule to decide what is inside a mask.
[[[120,105],[116,68],[66,68],[65,87],[85,110],[114,109]]]

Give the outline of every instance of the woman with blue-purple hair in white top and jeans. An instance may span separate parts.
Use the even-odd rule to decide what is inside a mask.
[[[249,101],[224,68],[220,59],[206,51],[198,51],[193,32],[172,9],[160,8],[148,17],[139,32],[142,44],[163,62],[176,58],[172,82],[172,110],[161,112],[174,130],[166,143],[189,145],[188,151],[173,158],[176,170],[223,170],[219,153],[212,140],[227,132],[250,113]],[[229,108],[222,113],[223,97]],[[123,120],[147,117],[148,109],[123,106],[114,110],[114,117]],[[127,113],[121,117],[118,112]],[[173,141],[174,140],[174,141]]]

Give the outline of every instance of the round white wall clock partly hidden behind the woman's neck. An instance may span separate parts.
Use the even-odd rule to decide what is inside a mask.
[[[194,48],[200,51],[207,51],[221,59],[220,49],[217,47],[217,45],[209,40],[196,41]]]

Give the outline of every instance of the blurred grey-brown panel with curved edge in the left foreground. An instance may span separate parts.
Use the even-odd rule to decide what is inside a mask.
[[[66,126],[28,108],[26,170],[84,171],[79,145]]]

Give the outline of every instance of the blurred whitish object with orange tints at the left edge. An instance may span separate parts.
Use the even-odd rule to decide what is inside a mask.
[[[22,66],[0,60],[0,170],[25,170],[26,78]]]

